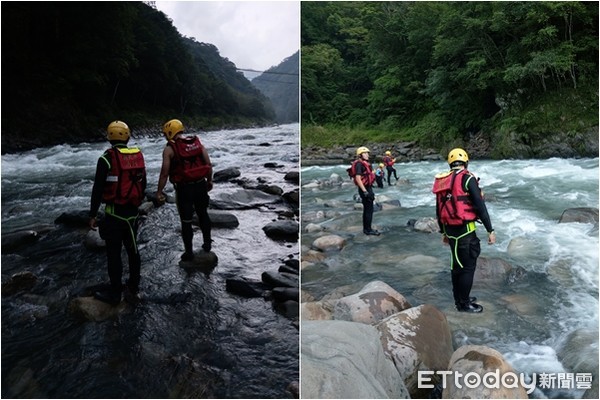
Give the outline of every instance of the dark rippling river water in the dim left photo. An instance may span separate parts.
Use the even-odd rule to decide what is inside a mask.
[[[144,152],[153,193],[165,141],[133,134],[130,145]],[[297,189],[284,175],[298,171],[298,124],[200,137],[215,171],[238,167],[249,182],[277,185],[284,193]],[[288,385],[299,380],[297,326],[270,301],[225,290],[227,278],[259,281],[263,271],[298,259],[296,243],[271,240],[262,231],[289,212],[285,203],[227,210],[239,226],[213,229],[219,261],[203,272],[178,265],[183,243],[175,205],[155,209],[139,231],[142,302],[104,322],[83,322],[67,312],[73,297],[108,282],[106,256],[83,246],[84,226],[54,221],[89,209],[96,162],[107,145],[2,156],[2,235],[41,232],[32,244],[2,251],[2,397],[291,398]],[[239,190],[235,183],[216,183],[211,197]],[[200,249],[199,230],[194,243]],[[5,280],[23,271],[37,277],[33,288],[5,295]]]

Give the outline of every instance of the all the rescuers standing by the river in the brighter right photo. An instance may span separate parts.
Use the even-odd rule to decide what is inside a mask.
[[[384,162],[376,171],[369,162],[370,150],[361,146],[356,149],[356,160],[348,168],[358,188],[363,204],[363,233],[379,236],[373,229],[373,203],[375,194],[373,184],[383,187],[383,168],[387,169],[388,185],[392,174],[398,180],[393,167],[396,162],[387,151]],[[461,312],[480,313],[483,307],[472,297],[471,288],[481,252],[480,240],[476,234],[476,222],[481,222],[488,232],[488,244],[496,242],[496,234],[479,187],[479,179],[469,172],[469,156],[464,149],[455,148],[448,153],[449,171],[437,174],[432,192],[436,198],[436,216],[442,243],[451,249],[452,292],[456,309]]]

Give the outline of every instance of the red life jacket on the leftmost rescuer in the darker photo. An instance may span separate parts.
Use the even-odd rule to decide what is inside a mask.
[[[102,201],[139,207],[144,200],[146,182],[144,155],[136,147],[112,147],[106,154],[110,157],[110,171],[106,177]]]

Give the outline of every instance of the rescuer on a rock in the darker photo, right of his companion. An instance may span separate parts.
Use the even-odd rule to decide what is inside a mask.
[[[212,248],[208,192],[213,187],[213,171],[208,152],[198,136],[183,136],[183,131],[183,124],[178,119],[172,119],[163,126],[167,145],[163,150],[156,197],[164,201],[163,189],[168,178],[175,187],[177,210],[181,220],[181,236],[185,247],[181,260],[191,261],[194,259],[194,210],[198,215],[204,240],[202,249],[209,252]]]

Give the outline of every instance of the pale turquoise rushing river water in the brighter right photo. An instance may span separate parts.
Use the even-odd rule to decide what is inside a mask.
[[[381,236],[362,234],[362,211],[353,210],[355,186],[346,165],[301,170],[303,252],[322,233],[307,233],[316,223],[347,240],[340,252],[302,270],[302,288],[317,300],[345,285],[358,291],[381,280],[414,305],[429,303],[450,323],[454,346],[480,344],[500,351],[517,372],[561,373],[557,352],[566,338],[584,332],[594,339],[577,349],[579,360],[598,365],[598,228],[593,223],[561,223],[564,210],[598,208],[598,159],[504,160],[470,163],[481,178],[497,233],[489,246],[481,225],[482,258],[504,260],[525,274],[513,281],[474,282],[472,295],[479,315],[453,309],[449,248],[438,234],[415,232],[411,219],[435,217],[433,176],[446,170],[443,161],[396,164],[408,183],[375,189],[376,195],[399,200],[400,208],[377,211],[373,223]],[[337,174],[341,186],[306,186]],[[392,179],[394,181],[394,179]],[[402,181],[400,181],[402,182]],[[316,213],[322,212],[317,216]],[[519,244],[519,246],[512,247]],[[510,248],[512,247],[512,248]],[[418,261],[414,261],[418,260]],[[595,372],[595,371],[585,371]],[[596,370],[597,372],[597,370]],[[597,383],[596,383],[597,384]],[[580,397],[581,390],[536,390],[536,398]]]

